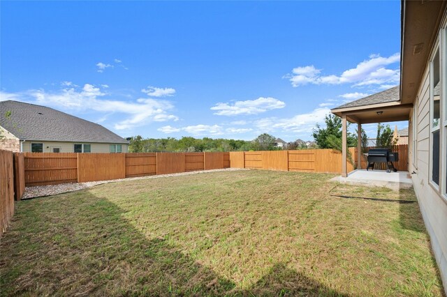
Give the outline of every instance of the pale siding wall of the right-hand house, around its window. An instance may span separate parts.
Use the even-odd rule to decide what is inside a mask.
[[[430,70],[425,69],[419,85],[418,100],[414,102],[416,119],[411,116],[409,126],[409,172],[416,172],[413,188],[418,197],[420,212],[423,215],[434,257],[436,258],[444,287],[447,288],[447,199],[441,197],[430,185]],[[413,135],[413,125],[416,125]],[[413,137],[416,147],[413,147]],[[416,160],[413,160],[413,154]]]

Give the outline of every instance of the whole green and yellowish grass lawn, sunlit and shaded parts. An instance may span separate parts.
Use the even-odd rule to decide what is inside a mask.
[[[20,201],[0,294],[442,296],[413,191],[332,176],[214,172]]]

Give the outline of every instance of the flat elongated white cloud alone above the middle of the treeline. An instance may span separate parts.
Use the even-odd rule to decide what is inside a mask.
[[[261,114],[272,109],[284,108],[286,103],[275,98],[260,97],[256,100],[236,101],[230,103],[217,103],[212,110],[217,110],[214,114],[219,116],[235,116],[241,114]]]

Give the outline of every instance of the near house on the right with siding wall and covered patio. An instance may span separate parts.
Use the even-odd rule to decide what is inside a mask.
[[[342,117],[342,176],[347,174],[347,121],[358,123],[358,135],[364,123],[409,121],[409,172],[444,290],[447,289],[446,8],[447,1],[402,1],[400,86],[332,109],[333,114]]]

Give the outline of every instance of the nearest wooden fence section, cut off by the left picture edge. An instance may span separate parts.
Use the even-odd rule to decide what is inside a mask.
[[[14,215],[13,152],[0,151],[0,237]]]

